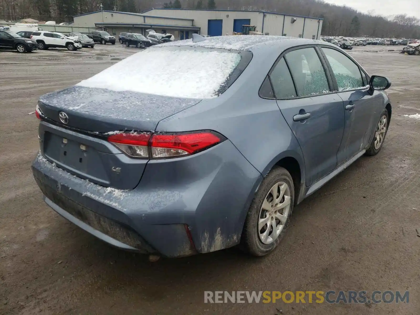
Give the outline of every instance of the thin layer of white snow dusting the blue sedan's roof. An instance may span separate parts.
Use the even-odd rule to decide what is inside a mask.
[[[228,50],[250,50],[252,47],[270,42],[286,42],[295,41],[304,44],[304,42],[319,42],[312,39],[302,39],[286,36],[270,36],[270,35],[231,35],[231,36],[215,36],[206,37],[202,42],[192,42],[192,39],[180,40],[160,44],[159,46],[193,46],[205,48],[224,48]]]

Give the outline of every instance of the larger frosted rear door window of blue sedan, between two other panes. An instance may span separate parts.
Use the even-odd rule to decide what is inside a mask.
[[[302,48],[286,54],[298,96],[330,92],[327,76],[315,48]]]

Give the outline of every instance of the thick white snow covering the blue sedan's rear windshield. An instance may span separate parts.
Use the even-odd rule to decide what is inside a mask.
[[[170,97],[213,98],[241,60],[233,51],[147,49],[80,86]]]

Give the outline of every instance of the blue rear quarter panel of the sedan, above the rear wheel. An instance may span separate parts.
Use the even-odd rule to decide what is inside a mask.
[[[281,52],[253,51],[252,61],[226,92],[160,121],[156,131],[214,130],[226,136],[262,176],[281,158],[294,157],[304,180],[302,151],[276,100],[258,95]]]

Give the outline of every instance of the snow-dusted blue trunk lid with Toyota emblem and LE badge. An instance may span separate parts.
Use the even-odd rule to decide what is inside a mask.
[[[107,141],[119,131],[154,131],[157,123],[200,102],[136,92],[71,87],[38,102],[42,155],[58,167],[95,184],[134,189],[147,159],[124,155]],[[64,113],[60,119],[60,113]],[[64,118],[66,119],[64,119]]]

